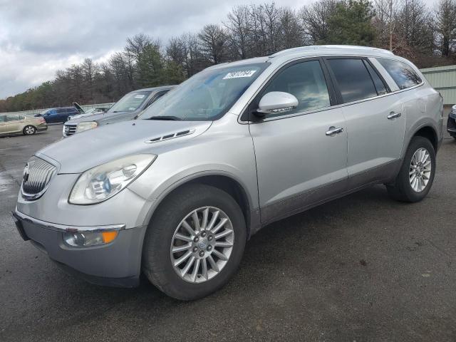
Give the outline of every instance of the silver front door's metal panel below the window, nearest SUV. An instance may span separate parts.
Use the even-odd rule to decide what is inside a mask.
[[[345,127],[341,109],[250,125],[263,222],[346,189],[347,134],[331,126]]]

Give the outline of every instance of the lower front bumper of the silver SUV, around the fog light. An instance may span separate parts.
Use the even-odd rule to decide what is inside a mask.
[[[14,221],[19,234],[63,269],[99,285],[138,286],[141,266],[142,239],[146,227],[125,229],[125,225],[71,227],[43,222],[15,211]],[[108,244],[94,247],[68,247],[64,232],[118,229],[118,237]]]

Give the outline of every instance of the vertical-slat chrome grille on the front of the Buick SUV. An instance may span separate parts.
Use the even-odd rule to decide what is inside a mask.
[[[56,172],[57,168],[46,160],[31,157],[22,175],[22,197],[31,200],[43,195]]]

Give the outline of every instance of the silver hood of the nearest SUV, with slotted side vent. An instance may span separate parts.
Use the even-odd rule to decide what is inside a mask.
[[[105,125],[58,140],[36,152],[60,164],[58,173],[81,173],[126,155],[154,153],[164,145],[182,143],[204,133],[212,121],[135,120]],[[192,133],[164,141],[146,143],[190,130]]]

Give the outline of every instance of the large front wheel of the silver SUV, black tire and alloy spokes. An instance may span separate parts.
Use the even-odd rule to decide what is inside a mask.
[[[202,216],[204,208],[208,209],[206,227],[209,227],[211,223],[209,221],[211,221],[214,212],[219,209],[217,220],[214,221],[216,222],[213,225],[214,228],[206,230],[207,235],[204,234],[204,237],[204,229],[201,229],[195,235],[191,235],[186,229],[182,230],[184,219],[187,223],[193,224],[192,228],[195,227],[195,220],[190,216],[195,211],[198,212],[198,224],[204,226],[204,216]],[[229,233],[227,237],[217,238],[217,240],[215,232],[212,233],[212,231],[217,228],[217,225],[222,222],[222,217],[225,216],[228,221],[219,229],[217,235],[226,234],[230,230],[232,230],[232,233]],[[195,232],[197,232],[197,229],[195,229]],[[181,237],[182,234],[188,234],[190,239],[185,240],[185,242],[183,240],[180,241],[180,239],[175,237],[176,233],[180,233]],[[192,237],[198,236],[198,234],[200,240],[196,243]],[[212,242],[209,242],[211,238]],[[165,198],[157,208],[157,212],[152,216],[142,248],[142,270],[147,279],[168,296],[183,301],[200,299],[217,291],[229,281],[242,259],[246,240],[247,232],[244,215],[239,204],[227,192],[209,185],[185,185]],[[232,247],[217,247],[220,242],[232,244]],[[214,244],[212,252],[207,252],[209,251],[209,246],[204,243]],[[174,252],[173,254],[172,247],[180,247],[177,244],[191,244],[192,247],[185,252]],[[197,251],[195,251],[195,248]],[[192,253],[191,257],[176,266],[176,269],[174,264],[182,257],[182,254],[187,254],[189,251]],[[219,259],[217,257],[218,254],[214,254],[216,252],[228,254],[227,251],[229,252],[227,261]],[[204,257],[200,258],[202,257],[202,252]],[[218,272],[212,267],[208,259],[209,256],[205,255],[206,253],[210,255],[212,261],[217,262],[216,269]],[[193,261],[188,273],[185,274],[187,279],[184,279],[181,275],[182,271],[185,270],[187,262],[190,262],[192,257],[197,259]],[[197,261],[198,259],[199,261]],[[207,265],[205,273],[203,273],[203,262]],[[198,265],[196,273],[195,265]],[[180,269],[181,267],[182,270]]]

